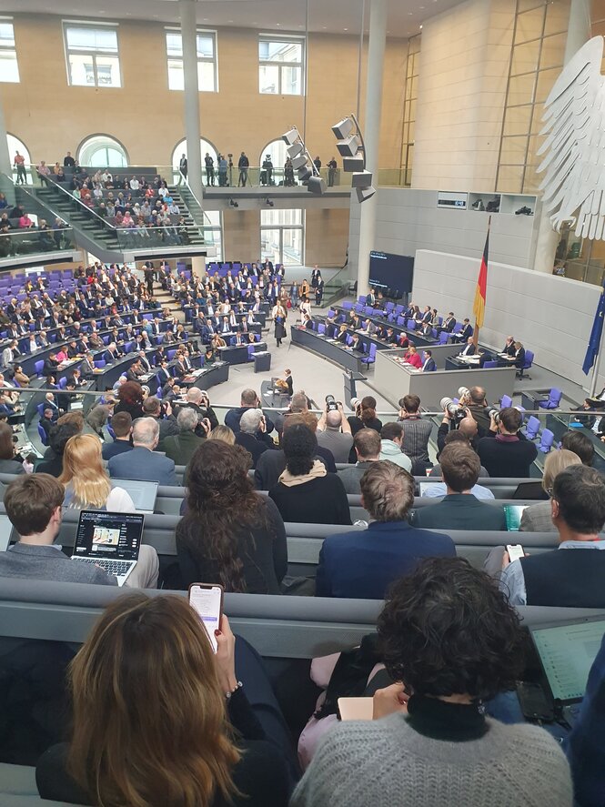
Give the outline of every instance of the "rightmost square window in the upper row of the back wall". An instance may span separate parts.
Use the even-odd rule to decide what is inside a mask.
[[[261,34],[258,38],[258,91],[275,96],[303,95],[305,40]]]

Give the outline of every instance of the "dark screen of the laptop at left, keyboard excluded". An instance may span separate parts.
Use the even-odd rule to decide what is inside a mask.
[[[139,513],[82,510],[77,525],[74,556],[136,560],[145,517]]]

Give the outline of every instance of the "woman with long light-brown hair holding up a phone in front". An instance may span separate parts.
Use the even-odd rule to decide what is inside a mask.
[[[37,764],[42,798],[286,807],[284,757],[238,681],[226,616],[215,632],[216,654],[180,597],[115,600],[72,662],[73,728]],[[251,650],[246,662],[266,678]]]

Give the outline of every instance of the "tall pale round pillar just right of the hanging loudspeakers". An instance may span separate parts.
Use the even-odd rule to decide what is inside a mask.
[[[369,0],[368,79],[366,82],[366,114],[362,130],[366,145],[366,167],[378,185],[378,146],[382,111],[382,73],[387,41],[387,0]],[[361,205],[359,221],[358,294],[369,289],[369,253],[376,248],[376,194]]]

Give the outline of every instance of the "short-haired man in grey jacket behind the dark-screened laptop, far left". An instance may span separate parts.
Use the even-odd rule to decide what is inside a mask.
[[[94,563],[72,562],[55,545],[64,498],[65,488],[49,474],[24,474],[10,483],[5,492],[5,509],[19,533],[19,541],[0,552],[0,577],[116,586],[113,574]],[[158,572],[156,550],[148,544],[142,545],[125,585],[155,589]]]

